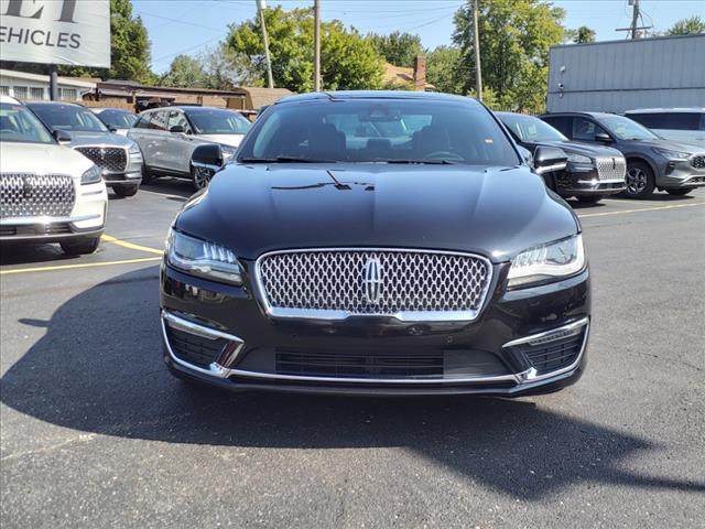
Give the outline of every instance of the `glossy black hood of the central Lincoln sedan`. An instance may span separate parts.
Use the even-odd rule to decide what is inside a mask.
[[[579,224],[527,168],[252,164],[220,171],[176,228],[245,259],[278,249],[398,247],[505,261],[574,235]]]

